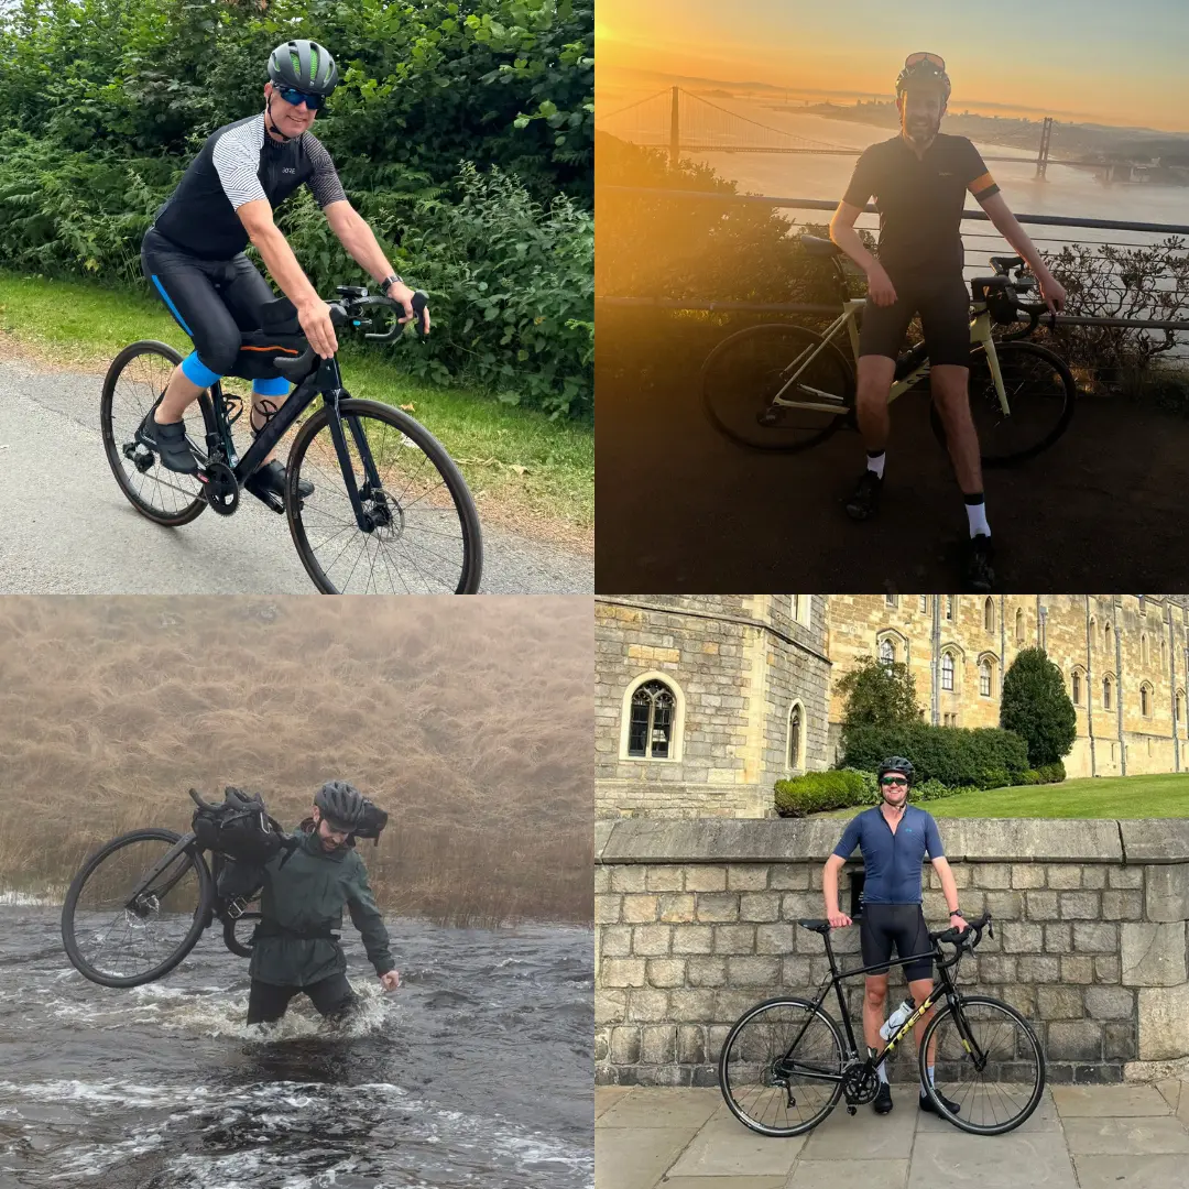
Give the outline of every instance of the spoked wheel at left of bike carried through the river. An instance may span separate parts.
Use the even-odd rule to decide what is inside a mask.
[[[181,837],[158,829],[120,835],[74,877],[62,906],[62,942],[92,982],[139,987],[169,974],[194,949],[214,895],[199,853],[182,851],[137,892]]]

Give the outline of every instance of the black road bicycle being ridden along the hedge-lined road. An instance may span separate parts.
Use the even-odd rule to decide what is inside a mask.
[[[340,285],[328,302],[341,332],[386,342],[404,329],[404,307],[363,288]],[[427,297],[413,298],[419,328]],[[391,319],[382,332],[370,328]],[[125,347],[103,379],[103,448],[115,482],[132,507],[157,524],[188,524],[208,505],[220,516],[239,508],[240,489],[269,452],[321,396],[322,404],[297,430],[289,449],[284,499],[258,495],[283,514],[306,572],[325,594],[473,594],[483,573],[483,537],[474,501],[445,447],[403,409],[356,400],[342,386],[336,357],[320,359],[297,322],[288,297],[262,309],[263,327],[244,332],[240,359],[279,372],[297,386],[279,407],[260,401],[268,419],[240,455],[232,426],[250,397],[216,380],[185,415],[187,440],[199,460],[197,476],[161,465],[137,441],[137,430],[161,402],[181,354],[145,339]],[[270,370],[271,370],[270,369]],[[314,493],[298,496],[298,483]]]

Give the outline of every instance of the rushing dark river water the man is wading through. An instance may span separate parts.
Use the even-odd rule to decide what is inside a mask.
[[[208,931],[157,983],[97,987],[61,911],[0,904],[0,1187],[572,1189],[593,1184],[591,932],[390,920],[384,993],[342,1031],[304,996],[244,1024],[247,961]]]

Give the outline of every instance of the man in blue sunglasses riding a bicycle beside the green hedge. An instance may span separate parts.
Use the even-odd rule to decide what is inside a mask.
[[[297,321],[313,350],[323,359],[338,351],[326,302],[272,221],[273,209],[303,183],[347,253],[386,296],[404,306],[400,321],[414,317],[413,290],[396,275],[371,227],[347,201],[331,155],[310,131],[339,83],[334,58],[317,42],[298,38],[272,51],[268,74],[263,113],[212,133],[177,189],[158,208],[140,247],[145,276],[194,341],[194,351],[174,370],[156,414],[146,417],[137,433],[137,440],[155,451],[170,471],[197,471],[185,441],[185,409],[203,389],[232,373],[240,332],[259,329],[260,307],[276,300],[259,269],[244,254],[250,241],[297,308]],[[428,331],[428,313],[423,325]],[[282,377],[252,382],[253,433],[288,395],[289,383]],[[246,486],[257,495],[271,491],[284,497],[285,467],[275,452]],[[314,491],[306,480],[300,489],[303,497]]]

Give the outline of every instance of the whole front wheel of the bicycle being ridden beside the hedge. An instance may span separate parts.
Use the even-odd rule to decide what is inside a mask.
[[[340,401],[356,518],[331,410],[302,426],[289,454],[285,509],[306,572],[323,594],[474,594],[483,573],[479,514],[445,447],[408,414]],[[309,479],[313,496],[298,496]]]

